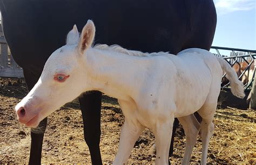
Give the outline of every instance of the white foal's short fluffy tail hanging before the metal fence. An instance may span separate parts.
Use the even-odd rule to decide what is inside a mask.
[[[222,70],[226,72],[227,79],[230,81],[232,94],[236,97],[244,98],[244,85],[240,80],[238,80],[237,73],[235,73],[234,69],[226,60],[219,57],[217,57],[217,60],[219,61]]]

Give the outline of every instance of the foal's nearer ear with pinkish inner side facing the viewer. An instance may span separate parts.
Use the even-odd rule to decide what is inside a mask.
[[[95,37],[95,25],[92,20],[87,20],[86,25],[83,28],[80,40],[78,43],[78,51],[80,54],[84,54],[84,51],[92,45]]]

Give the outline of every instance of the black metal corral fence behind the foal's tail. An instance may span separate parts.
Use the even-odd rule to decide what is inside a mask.
[[[251,108],[255,109],[255,103],[252,104],[252,101],[255,100],[255,94],[251,96],[250,102],[247,100],[250,95],[250,91],[255,91],[255,58],[256,50],[246,50],[246,49],[237,49],[237,48],[226,48],[226,47],[211,47],[211,52],[231,64],[233,67],[235,64],[242,68],[242,64],[246,67],[243,70],[240,70],[239,78],[245,78],[244,88],[245,88],[245,97],[243,99],[237,98],[232,95],[228,83],[221,83],[221,92],[219,95],[218,103],[220,108],[226,108],[227,106],[235,107],[238,109],[248,109],[249,105]],[[223,75],[223,81],[225,80],[225,75]],[[253,89],[254,88],[254,89]],[[255,92],[254,92],[255,93]],[[250,103],[250,104],[249,104]],[[252,106],[253,105],[253,106]]]

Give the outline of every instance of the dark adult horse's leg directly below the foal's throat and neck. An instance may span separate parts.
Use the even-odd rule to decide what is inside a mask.
[[[89,147],[92,164],[102,164],[100,156],[100,109],[102,104],[102,93],[90,91],[79,97],[84,124],[84,139]]]

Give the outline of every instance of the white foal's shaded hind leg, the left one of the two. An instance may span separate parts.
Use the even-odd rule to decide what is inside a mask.
[[[181,125],[183,126],[185,135],[186,135],[186,148],[185,148],[185,154],[182,160],[182,164],[189,164],[192,149],[194,147],[194,144],[196,144],[196,141],[197,141],[197,135],[200,130],[200,124],[196,119],[196,117],[194,116],[194,114],[180,117],[178,119]]]

